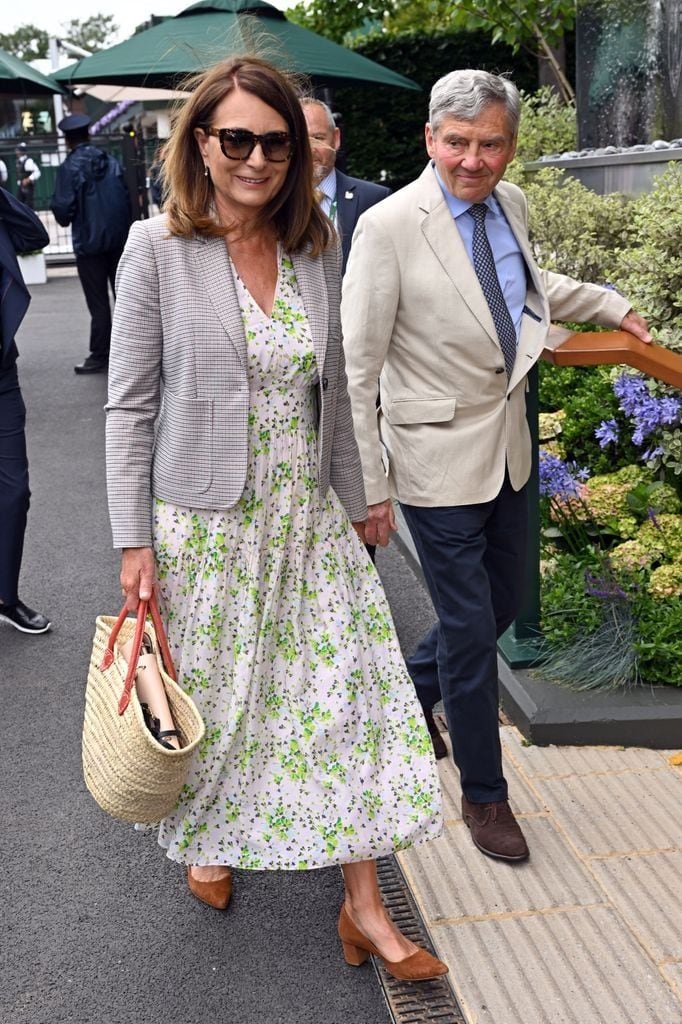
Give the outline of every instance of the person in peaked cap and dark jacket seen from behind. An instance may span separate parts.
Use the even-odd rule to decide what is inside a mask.
[[[73,224],[76,267],[90,312],[90,354],[77,374],[105,373],[112,340],[109,287],[116,297],[116,269],[128,237],[130,203],[118,160],[90,142],[85,114],[63,118],[69,156],[58,168],[50,209],[62,227]]]

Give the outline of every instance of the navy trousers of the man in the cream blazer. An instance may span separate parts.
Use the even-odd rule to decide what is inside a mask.
[[[497,639],[520,604],[526,488],[505,478],[480,505],[401,505],[438,622],[408,669],[423,708],[442,697],[462,791],[474,804],[507,799],[498,723]]]

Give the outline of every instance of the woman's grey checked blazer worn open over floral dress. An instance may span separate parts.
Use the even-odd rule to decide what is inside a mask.
[[[318,483],[365,519],[341,340],[340,250],[292,256],[317,362]],[[152,499],[226,509],[248,462],[247,343],[222,239],[132,225],[119,264],[106,403],[115,547],[152,543]]]

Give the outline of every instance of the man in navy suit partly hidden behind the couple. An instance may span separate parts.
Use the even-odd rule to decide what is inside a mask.
[[[303,99],[302,105],[312,148],[313,182],[322,194],[319,202],[323,210],[341,237],[345,272],[359,215],[390,196],[391,190],[386,185],[375,185],[337,171],[336,155],[341,144],[341,132],[336,127],[334,115],[321,99]]]

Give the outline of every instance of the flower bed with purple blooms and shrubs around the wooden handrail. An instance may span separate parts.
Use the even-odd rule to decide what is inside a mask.
[[[552,103],[524,97],[525,160],[565,114]],[[526,194],[541,266],[617,289],[682,351],[680,164],[636,199],[518,159],[507,177]],[[680,392],[623,368],[542,365],[540,403],[543,677],[682,686]]]

